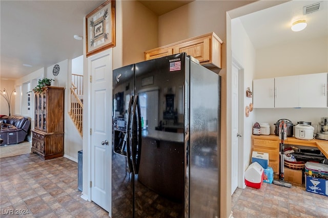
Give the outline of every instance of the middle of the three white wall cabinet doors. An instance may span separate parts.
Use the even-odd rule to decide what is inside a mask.
[[[275,78],[275,107],[299,107],[299,76]]]

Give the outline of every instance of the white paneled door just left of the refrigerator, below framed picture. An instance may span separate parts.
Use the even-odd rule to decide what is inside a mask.
[[[91,60],[91,201],[111,209],[112,57]]]

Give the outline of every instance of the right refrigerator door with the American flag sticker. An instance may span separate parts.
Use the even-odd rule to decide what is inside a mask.
[[[135,217],[183,217],[185,57],[135,64],[142,129]]]

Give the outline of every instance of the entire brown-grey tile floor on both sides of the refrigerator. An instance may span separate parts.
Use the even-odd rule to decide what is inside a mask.
[[[43,161],[32,153],[1,158],[0,185],[0,217],[108,217],[107,211],[80,198],[77,163],[67,158]],[[322,218],[328,217],[328,197],[297,184],[285,188],[263,183],[260,189],[237,188],[232,211],[235,218]]]

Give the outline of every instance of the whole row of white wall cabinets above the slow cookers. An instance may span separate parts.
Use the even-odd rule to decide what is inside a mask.
[[[327,107],[327,73],[253,80],[254,108]]]

